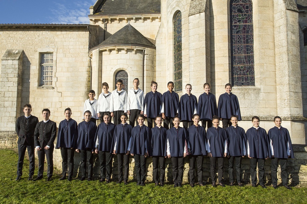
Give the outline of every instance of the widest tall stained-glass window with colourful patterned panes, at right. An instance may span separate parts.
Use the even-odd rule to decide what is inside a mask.
[[[252,0],[230,1],[231,83],[255,86]]]

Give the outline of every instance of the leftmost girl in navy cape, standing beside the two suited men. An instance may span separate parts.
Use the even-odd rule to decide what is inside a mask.
[[[61,149],[62,155],[62,178],[66,179],[68,164],[68,181],[72,180],[74,172],[74,155],[78,137],[77,122],[71,118],[72,110],[66,108],[64,111],[65,119],[59,124],[56,149]]]

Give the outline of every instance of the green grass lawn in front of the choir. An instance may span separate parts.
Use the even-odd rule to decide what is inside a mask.
[[[155,187],[154,183],[137,186],[134,181],[128,185],[100,183],[94,181],[59,181],[60,172],[55,169],[53,180],[28,181],[29,161],[25,160],[23,176],[15,181],[18,155],[11,149],[0,150],[0,203],[307,203],[307,188],[258,186],[191,188],[187,183],[182,188],[171,184]],[[27,154],[26,154],[27,156]],[[36,161],[38,164],[38,161]],[[45,169],[47,169],[45,167]],[[34,178],[37,176],[37,166]]]

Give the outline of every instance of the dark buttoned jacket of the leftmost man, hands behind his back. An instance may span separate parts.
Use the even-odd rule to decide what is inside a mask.
[[[38,118],[31,115],[29,119],[27,119],[24,115],[17,118],[16,121],[16,132],[18,135],[17,144],[23,145],[25,141],[29,145],[34,144],[34,130],[36,124],[38,123]]]

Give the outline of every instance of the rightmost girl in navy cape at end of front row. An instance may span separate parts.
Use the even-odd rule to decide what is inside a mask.
[[[281,126],[282,119],[279,116],[274,118],[274,123],[275,127],[271,128],[268,132],[272,153],[271,176],[273,188],[277,188],[277,168],[279,160],[282,185],[291,190],[291,187],[288,186],[288,172],[286,169],[288,158],[294,159],[290,134],[287,128]]]

